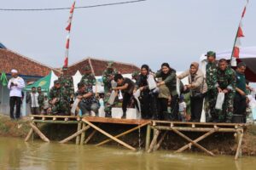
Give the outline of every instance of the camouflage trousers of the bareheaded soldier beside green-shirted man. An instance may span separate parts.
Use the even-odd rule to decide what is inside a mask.
[[[234,93],[225,94],[222,111],[218,111],[219,122],[231,122],[234,111]]]

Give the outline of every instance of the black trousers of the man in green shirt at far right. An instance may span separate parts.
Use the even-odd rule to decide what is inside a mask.
[[[242,115],[242,122],[247,122],[247,98],[246,96],[241,96],[241,94],[236,94],[234,98],[234,114]]]

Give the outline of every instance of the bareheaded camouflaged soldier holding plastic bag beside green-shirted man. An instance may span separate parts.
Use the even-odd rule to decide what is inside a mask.
[[[218,61],[217,84],[218,93],[225,94],[222,111],[219,111],[218,122],[231,122],[233,103],[236,94],[236,72],[230,68],[226,59]]]

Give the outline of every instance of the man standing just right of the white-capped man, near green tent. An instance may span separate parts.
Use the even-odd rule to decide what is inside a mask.
[[[32,87],[32,92],[26,96],[26,103],[30,104],[32,115],[39,115],[38,92],[36,87]]]

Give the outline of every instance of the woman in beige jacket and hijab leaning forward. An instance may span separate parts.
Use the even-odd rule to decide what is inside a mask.
[[[189,77],[189,84],[184,88],[190,90],[190,122],[200,122],[203,101],[207,93],[207,82],[197,62],[191,63],[189,70],[178,76],[179,79],[184,77]]]

